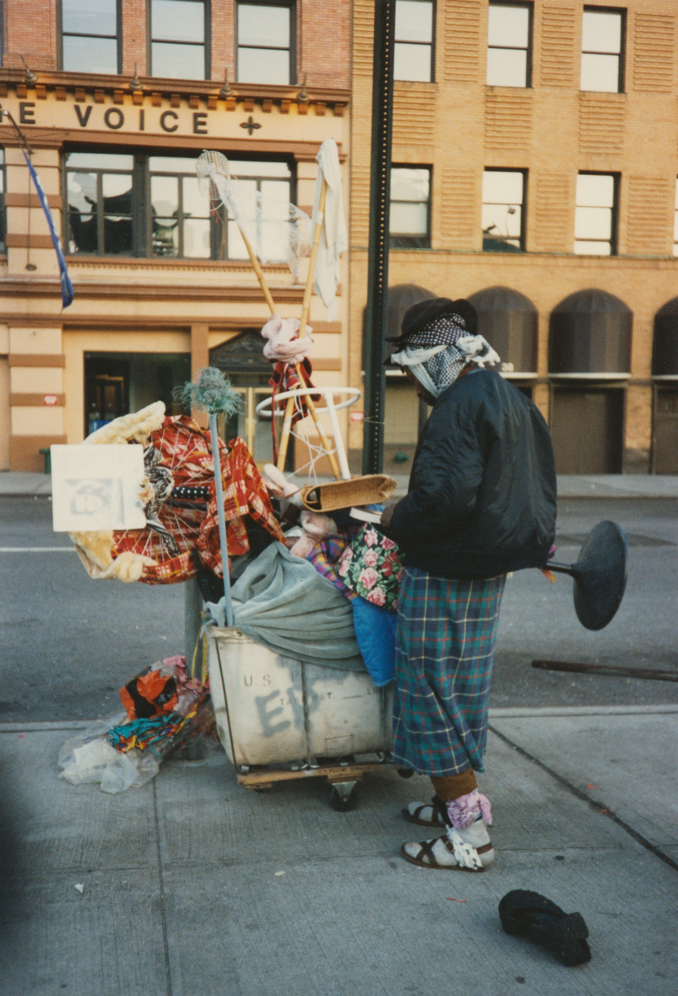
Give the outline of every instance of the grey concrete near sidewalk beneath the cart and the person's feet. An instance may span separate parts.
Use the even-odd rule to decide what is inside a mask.
[[[483,874],[400,857],[427,836],[400,810],[430,798],[428,779],[385,767],[337,813],[320,779],[239,787],[219,750],[112,797],[57,779],[82,725],[0,725],[12,996],[675,991],[678,706],[491,710],[498,859]],[[506,935],[512,888],[579,910],[591,962]]]

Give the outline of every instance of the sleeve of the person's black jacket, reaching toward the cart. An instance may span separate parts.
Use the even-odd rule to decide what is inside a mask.
[[[475,508],[485,470],[481,436],[489,426],[482,422],[475,405],[460,405],[454,397],[436,404],[416,457],[411,490],[393,512],[389,535],[396,541],[410,546],[463,526]]]

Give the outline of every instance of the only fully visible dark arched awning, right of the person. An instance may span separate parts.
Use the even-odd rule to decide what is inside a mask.
[[[632,320],[631,309],[605,291],[571,294],[551,312],[549,373],[627,375]]]

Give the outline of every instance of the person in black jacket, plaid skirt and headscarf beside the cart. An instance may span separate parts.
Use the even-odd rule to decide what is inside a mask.
[[[555,470],[538,409],[499,373],[468,301],[410,308],[391,363],[433,412],[405,498],[382,524],[404,556],[398,603],[394,754],[436,790],[413,823],[445,837],[403,845],[425,868],[490,865],[490,803],[478,791],[506,575],[544,567],[555,530]]]

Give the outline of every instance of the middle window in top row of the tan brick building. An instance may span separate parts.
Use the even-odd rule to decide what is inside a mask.
[[[531,4],[490,4],[487,76],[490,87],[529,87],[531,20]]]

